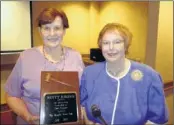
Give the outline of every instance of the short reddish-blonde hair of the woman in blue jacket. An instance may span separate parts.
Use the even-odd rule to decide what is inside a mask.
[[[120,35],[124,39],[124,46],[125,46],[125,51],[128,53],[128,48],[131,44],[132,41],[132,33],[129,31],[129,29],[124,26],[123,24],[120,23],[108,23],[106,24],[103,29],[100,31],[99,36],[98,36],[98,46],[101,49],[101,39],[103,38],[104,34],[108,31],[116,31],[119,32]]]

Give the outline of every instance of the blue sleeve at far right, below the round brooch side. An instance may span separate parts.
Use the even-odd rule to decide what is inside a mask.
[[[156,124],[164,124],[168,121],[168,109],[160,75],[155,75],[152,79],[148,97],[147,117],[147,120]]]

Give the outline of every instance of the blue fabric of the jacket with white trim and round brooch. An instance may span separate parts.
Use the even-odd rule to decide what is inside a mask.
[[[114,124],[145,124],[147,120],[163,124],[168,121],[163,83],[160,75],[147,65],[131,62],[129,72],[121,79]],[[142,78],[132,78],[134,71],[141,71]],[[118,80],[106,72],[106,62],[85,68],[81,78],[81,105],[86,108],[89,120],[101,123],[91,113],[91,106],[99,106],[103,118],[111,124]]]

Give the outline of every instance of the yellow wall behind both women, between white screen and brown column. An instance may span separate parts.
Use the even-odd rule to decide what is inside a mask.
[[[109,22],[123,23],[134,34],[128,57],[144,61],[148,2],[33,2],[33,21],[45,7],[63,9],[70,23],[64,45],[75,48],[81,54],[89,54],[97,47],[98,33]],[[40,45],[37,28],[33,28],[34,45]]]

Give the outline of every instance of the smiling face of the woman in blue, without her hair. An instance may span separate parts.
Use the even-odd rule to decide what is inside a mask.
[[[125,58],[124,38],[118,31],[107,31],[101,39],[102,54],[108,62]]]

